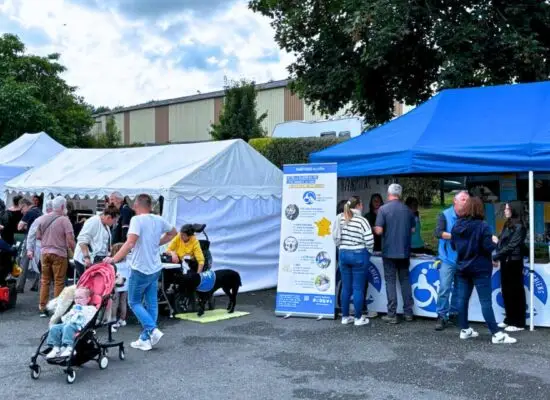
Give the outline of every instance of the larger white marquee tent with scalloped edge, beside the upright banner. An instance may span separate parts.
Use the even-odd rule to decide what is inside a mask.
[[[177,228],[205,223],[214,268],[239,271],[243,290],[276,286],[282,172],[242,140],[125,149],[67,149],[6,183],[9,193],[164,197]]]

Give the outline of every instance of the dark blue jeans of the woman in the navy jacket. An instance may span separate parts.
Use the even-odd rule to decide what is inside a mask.
[[[491,272],[473,272],[473,271],[458,271],[458,322],[461,329],[468,329],[468,306],[470,305],[470,296],[474,290],[477,290],[479,302],[481,304],[481,312],[483,318],[489,327],[489,330],[494,335],[499,331],[495,314],[493,312],[493,299],[491,286]]]

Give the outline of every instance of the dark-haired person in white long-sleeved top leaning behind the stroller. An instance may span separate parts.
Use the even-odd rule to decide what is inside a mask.
[[[118,217],[118,209],[108,206],[101,215],[94,215],[84,222],[78,234],[74,252],[75,264],[81,269],[88,268],[110,254],[111,227]],[[80,264],[80,265],[79,265]]]

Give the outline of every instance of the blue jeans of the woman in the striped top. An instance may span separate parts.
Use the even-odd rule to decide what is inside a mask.
[[[339,264],[342,276],[342,317],[349,317],[349,303],[353,293],[355,318],[361,318],[365,302],[365,282],[370,254],[367,249],[340,250]]]

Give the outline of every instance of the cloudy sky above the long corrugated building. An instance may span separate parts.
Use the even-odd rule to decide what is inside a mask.
[[[224,76],[287,77],[269,21],[246,0],[0,0],[0,33],[62,54],[65,79],[95,105],[219,90]]]

